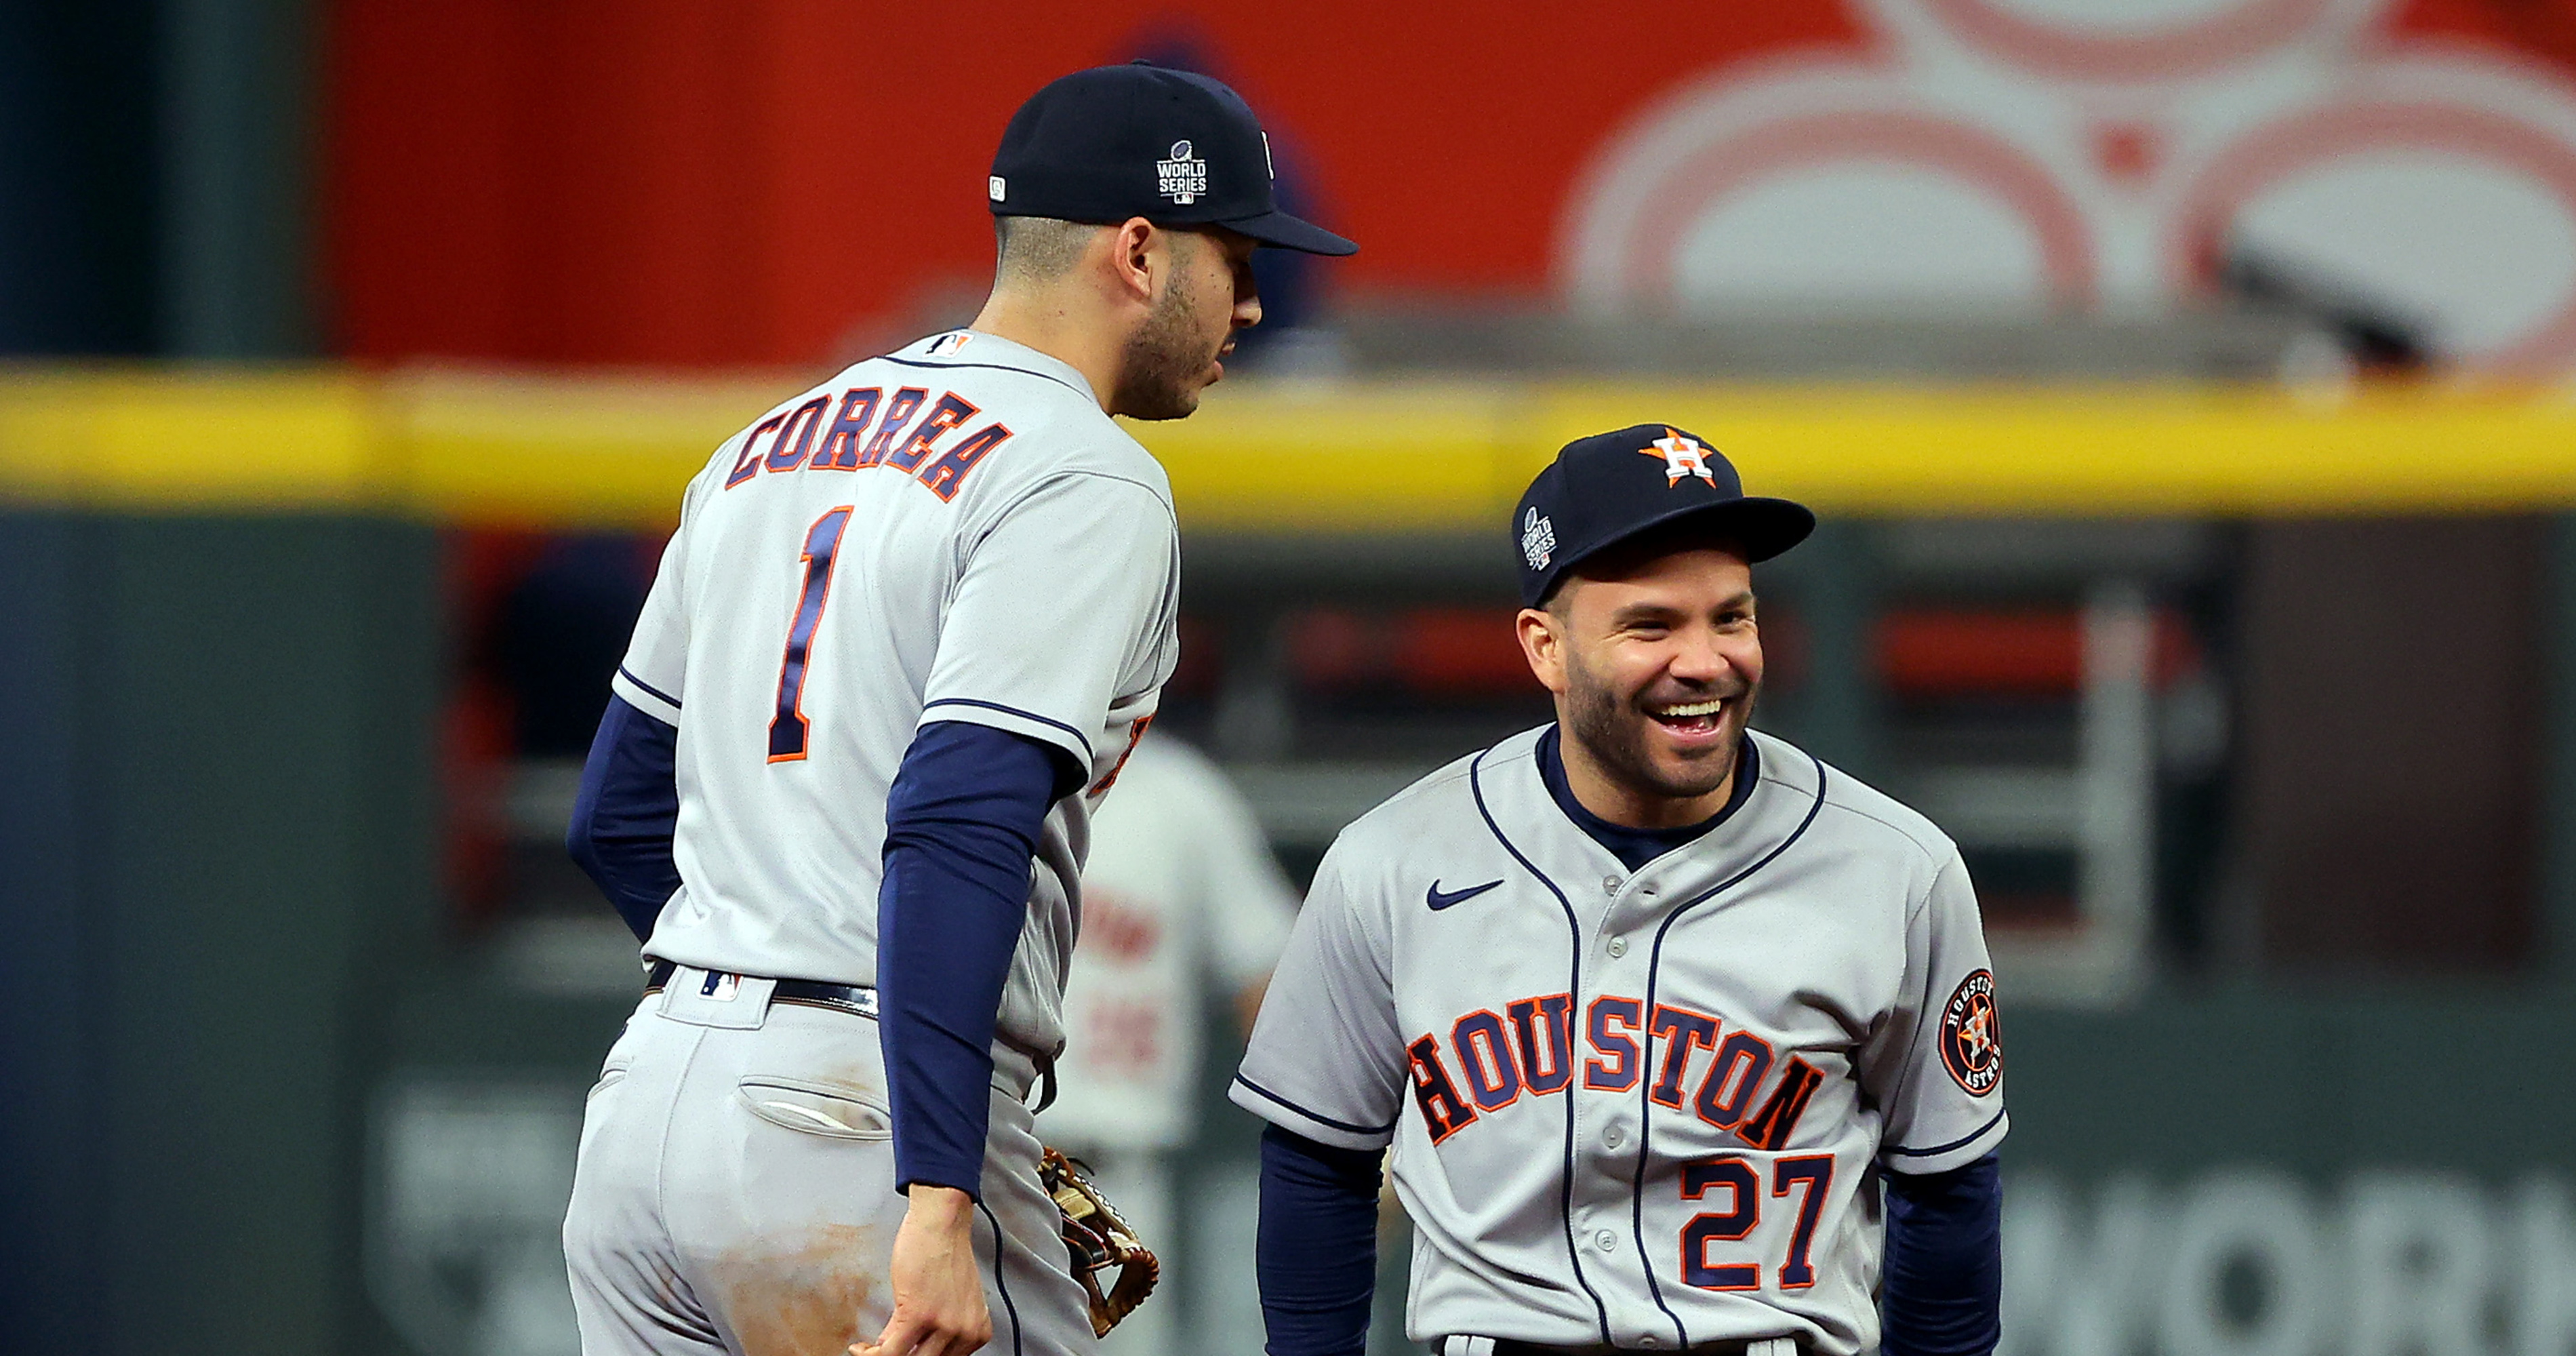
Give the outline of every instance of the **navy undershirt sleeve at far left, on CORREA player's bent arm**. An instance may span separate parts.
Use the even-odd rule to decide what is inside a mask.
[[[582,763],[572,828],[564,830],[564,851],[618,907],[636,941],[652,938],[654,918],[680,889],[680,866],[670,856],[680,822],[677,750],[677,727],[611,696]]]

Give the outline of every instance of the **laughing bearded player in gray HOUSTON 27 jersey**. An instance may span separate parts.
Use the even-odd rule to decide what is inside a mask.
[[[1391,1147],[1435,1351],[1984,1353],[2004,1139],[1958,848],[1752,732],[1752,565],[1814,528],[1700,438],[1569,443],[1512,516],[1556,722],[1316,871],[1231,1096],[1273,1356],[1363,1351]]]

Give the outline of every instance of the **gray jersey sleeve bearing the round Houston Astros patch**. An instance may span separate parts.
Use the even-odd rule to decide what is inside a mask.
[[[1904,993],[1860,1078],[1886,1109],[1880,1160],[1896,1173],[1945,1173],[2004,1142],[1994,964],[1958,851],[1906,923]]]

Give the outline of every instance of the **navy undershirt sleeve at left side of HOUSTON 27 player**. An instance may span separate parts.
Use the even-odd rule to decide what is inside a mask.
[[[1265,1129],[1255,1271],[1270,1356],[1363,1356],[1378,1289],[1378,1155]]]

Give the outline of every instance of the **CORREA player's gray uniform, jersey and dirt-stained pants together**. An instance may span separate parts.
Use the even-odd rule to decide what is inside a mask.
[[[582,1351],[873,1341],[904,1196],[876,1023],[775,998],[876,982],[886,791],[963,719],[1090,768],[1054,804],[1002,993],[974,1227],[994,1348],[1095,1351],[1025,1106],[1061,1041],[1090,809],[1175,663],[1162,467],[1082,376],[994,335],[868,358],[688,485],[616,691],[675,724],[675,962],[582,1119],[564,1258]]]

